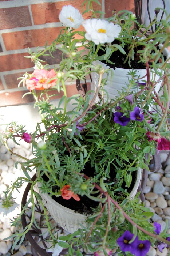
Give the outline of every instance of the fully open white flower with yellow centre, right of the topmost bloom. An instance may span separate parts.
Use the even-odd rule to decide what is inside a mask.
[[[83,24],[88,41],[93,41],[96,45],[111,43],[115,38],[119,37],[121,27],[104,19],[88,19]]]

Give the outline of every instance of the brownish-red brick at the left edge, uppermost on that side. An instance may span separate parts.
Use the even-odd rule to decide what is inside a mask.
[[[13,29],[15,27],[31,26],[28,6],[1,8],[0,28]]]

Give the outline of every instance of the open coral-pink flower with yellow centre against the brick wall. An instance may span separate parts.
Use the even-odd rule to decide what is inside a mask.
[[[54,79],[52,79],[54,78]],[[48,81],[52,79],[49,83]],[[46,69],[35,69],[32,77],[25,81],[28,90],[44,90],[56,85],[56,72],[54,69],[50,71]]]

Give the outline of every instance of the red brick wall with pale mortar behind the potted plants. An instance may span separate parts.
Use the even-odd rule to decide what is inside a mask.
[[[22,99],[25,90],[18,89],[17,78],[25,72],[33,71],[33,63],[28,56],[28,47],[32,51],[37,46],[44,46],[58,36],[61,23],[59,12],[63,5],[73,5],[82,12],[84,0],[0,0],[0,107],[27,104],[33,101],[31,95]],[[101,9],[106,17],[112,10],[127,9],[134,11],[134,0],[100,0]],[[96,5],[95,8],[98,8]],[[86,15],[84,19],[89,18]],[[55,53],[55,59],[50,64],[58,64],[60,52]],[[67,86],[68,95],[75,94],[74,86]]]

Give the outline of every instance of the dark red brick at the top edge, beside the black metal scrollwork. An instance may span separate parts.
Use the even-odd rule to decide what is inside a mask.
[[[116,10],[117,12],[120,10],[128,10],[135,12],[134,0],[105,0],[105,17],[112,16],[112,11]]]

